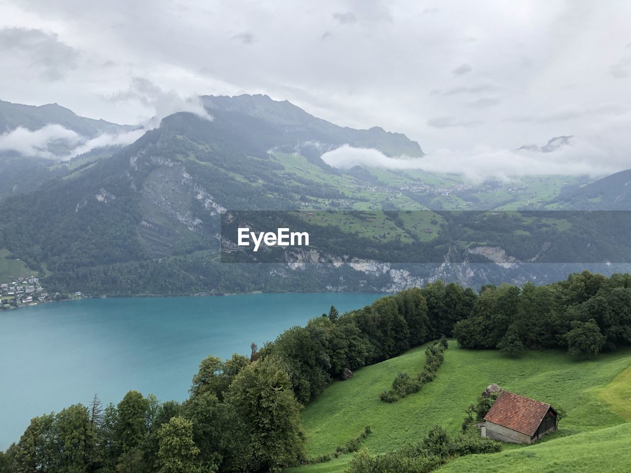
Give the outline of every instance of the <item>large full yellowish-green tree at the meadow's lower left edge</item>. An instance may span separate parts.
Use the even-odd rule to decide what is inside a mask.
[[[300,404],[280,360],[267,356],[246,366],[226,400],[245,422],[252,445],[249,470],[280,471],[304,455]]]

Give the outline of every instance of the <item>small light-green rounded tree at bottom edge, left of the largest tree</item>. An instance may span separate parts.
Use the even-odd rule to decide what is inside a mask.
[[[158,473],[197,473],[199,448],[193,441],[193,424],[174,417],[158,430]]]

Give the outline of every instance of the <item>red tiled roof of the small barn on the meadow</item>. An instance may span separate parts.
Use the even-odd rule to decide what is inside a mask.
[[[548,409],[545,402],[502,391],[484,420],[533,436]]]

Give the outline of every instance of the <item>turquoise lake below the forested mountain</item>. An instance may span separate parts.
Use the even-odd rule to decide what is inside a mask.
[[[380,294],[107,298],[0,312],[0,450],[30,419],[131,389],[184,400],[199,361],[249,354],[293,325]]]

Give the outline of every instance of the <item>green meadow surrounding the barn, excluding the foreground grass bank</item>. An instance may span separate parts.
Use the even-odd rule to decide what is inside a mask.
[[[396,404],[380,402],[379,393],[389,387],[398,371],[417,373],[423,362],[423,347],[419,347],[398,358],[362,368],[353,380],[329,386],[302,412],[309,439],[307,457],[333,453],[366,425],[371,426],[373,433],[364,445],[373,453],[417,441],[433,424],[442,424],[456,433],[465,416],[464,408],[493,382],[567,411],[568,418],[562,421],[560,431],[548,436],[547,441],[625,422],[623,416],[610,409],[616,402],[624,404],[623,400],[617,394],[610,394],[610,399],[604,400],[603,392],[615,391],[612,386],[618,386],[616,375],[631,365],[628,349],[590,361],[575,361],[561,351],[533,351],[520,359],[509,359],[498,351],[459,349],[452,341],[434,382]],[[626,385],[628,389],[627,381],[620,381],[620,386]],[[620,389],[623,388],[615,392]],[[523,447],[508,446],[505,452],[515,448]],[[348,460],[350,455],[345,455],[299,469],[305,473],[343,471]]]

